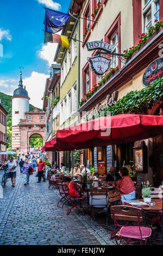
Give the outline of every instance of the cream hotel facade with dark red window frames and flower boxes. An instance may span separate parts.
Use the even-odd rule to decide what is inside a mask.
[[[131,92],[137,90],[142,92],[148,86],[143,84],[143,76],[151,63],[157,64],[157,59],[161,68],[161,42],[163,39],[162,24],[163,3],[154,0],[127,0],[127,1],[84,1],[81,6],[76,2],[72,5],[72,13],[82,18],[80,21],[80,108],[79,113],[81,121],[92,118],[92,111],[100,105],[103,110],[111,109],[113,105],[119,106],[120,100],[127,100],[127,95],[133,95]],[[93,21],[89,21],[93,20]],[[152,27],[153,26],[153,27]],[[147,34],[146,34],[147,33]],[[87,42],[103,41],[112,45],[110,54],[105,53],[105,57],[110,59],[110,68],[102,76],[95,75],[87,61],[89,57],[99,55],[98,50],[88,51]],[[128,50],[127,50],[128,49]],[[113,54],[112,54],[113,53]],[[118,56],[118,54],[124,54]],[[152,64],[153,65],[153,64]],[[161,72],[156,74],[160,78]],[[148,76],[148,75],[147,75]],[[152,79],[149,77],[149,79]],[[154,82],[155,79],[151,80]],[[151,83],[150,82],[150,83]],[[95,88],[95,89],[93,89]],[[160,90],[162,83],[160,81]],[[114,104],[105,106],[107,96],[115,97]],[[113,96],[114,95],[114,96]],[[150,98],[150,96],[149,96]],[[151,99],[150,99],[151,100]],[[150,101],[149,100],[149,101]],[[116,105],[116,102],[118,104]],[[125,102],[125,101],[124,101]],[[151,104],[146,103],[145,109],[140,108],[140,101],[135,102],[135,106],[127,107],[127,103],[117,109],[112,114],[118,113],[142,113],[142,114],[162,114],[162,97]],[[118,108],[118,107],[117,107]],[[112,108],[115,109],[115,108]],[[86,115],[83,115],[86,112]],[[162,131],[163,133],[163,131]],[[147,148],[146,172],[138,173],[136,181],[146,181],[152,185],[159,185],[163,178],[162,169],[162,135],[146,139]],[[88,149],[86,153],[86,162],[94,164],[95,159],[104,162],[105,173],[109,172],[110,159],[109,145],[107,147],[98,147]],[[132,166],[134,160],[134,142],[128,144],[115,145],[116,169],[119,170],[123,165]],[[101,157],[102,156],[102,157]],[[81,156],[83,159],[83,155]],[[153,159],[153,162],[151,161]],[[83,161],[83,160],[82,160]],[[98,165],[98,161],[96,163]]]

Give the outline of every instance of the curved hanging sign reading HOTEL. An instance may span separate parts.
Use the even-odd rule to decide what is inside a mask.
[[[99,50],[111,52],[113,45],[108,44],[108,42],[93,41],[93,42],[87,42],[86,47],[88,51],[99,49]]]

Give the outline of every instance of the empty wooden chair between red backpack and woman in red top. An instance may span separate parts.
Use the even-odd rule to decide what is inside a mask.
[[[108,187],[92,187],[90,189],[89,204],[91,205],[91,225],[95,220],[94,208],[107,208],[106,210],[106,226],[108,226]],[[101,220],[101,219],[100,219]],[[99,224],[97,224],[99,225]]]

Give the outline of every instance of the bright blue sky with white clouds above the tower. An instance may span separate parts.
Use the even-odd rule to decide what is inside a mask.
[[[20,79],[28,90],[30,103],[42,107],[41,97],[58,44],[43,44],[45,9],[67,13],[70,0],[0,0],[0,91],[12,95]],[[38,95],[36,98],[36,94]]]

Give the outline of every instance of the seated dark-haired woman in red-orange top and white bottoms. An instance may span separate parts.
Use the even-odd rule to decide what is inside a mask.
[[[126,167],[123,167],[122,170],[120,170],[120,176],[122,177],[122,179],[118,180],[116,184],[117,189],[121,191],[121,201],[123,204],[125,200],[135,199],[136,188],[134,186],[134,182],[128,175],[128,169]]]

